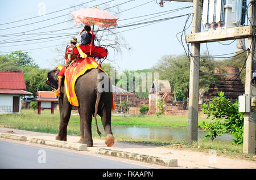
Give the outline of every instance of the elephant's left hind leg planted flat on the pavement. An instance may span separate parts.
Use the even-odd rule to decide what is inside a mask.
[[[88,105],[82,104],[80,106],[80,127],[84,130],[84,139],[80,143],[87,144],[88,147],[92,147],[92,110]]]

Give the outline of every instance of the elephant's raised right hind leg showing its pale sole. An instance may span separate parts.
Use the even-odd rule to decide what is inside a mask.
[[[105,105],[105,108],[102,110],[101,122],[105,131],[105,144],[108,147],[114,145],[115,139],[111,129],[111,107]]]

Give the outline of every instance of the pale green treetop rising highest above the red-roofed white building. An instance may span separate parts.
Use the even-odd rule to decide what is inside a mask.
[[[11,59],[16,66],[19,67],[25,67],[25,66],[30,66],[34,68],[39,68],[38,65],[36,65],[35,60],[28,55],[28,52],[21,52],[15,51],[11,52],[10,54],[6,55],[9,59]]]

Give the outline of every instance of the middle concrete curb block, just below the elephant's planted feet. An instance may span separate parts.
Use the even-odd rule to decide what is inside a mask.
[[[31,138],[30,143],[49,145],[49,146],[65,148],[65,149],[73,149],[73,150],[77,150],[77,151],[86,151],[87,150],[87,144],[63,142],[60,140],[47,140],[47,139]]]

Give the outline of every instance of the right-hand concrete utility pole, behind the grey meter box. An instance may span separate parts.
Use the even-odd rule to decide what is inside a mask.
[[[255,1],[251,1],[250,7],[250,22],[253,27],[256,25],[256,6]],[[246,61],[246,76],[245,76],[245,95],[249,95],[250,99],[253,97],[255,91],[255,84],[252,85],[252,72],[255,72],[255,66],[253,67],[253,63],[256,62],[255,56],[255,36],[250,36],[248,38],[248,48],[250,48],[250,52],[248,52],[248,58]],[[254,107],[255,110],[255,107]],[[251,112],[250,106],[250,113],[245,113],[243,119],[243,153],[250,153],[255,154],[255,113]]]

